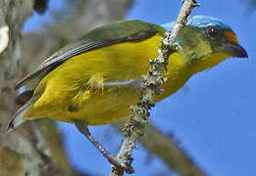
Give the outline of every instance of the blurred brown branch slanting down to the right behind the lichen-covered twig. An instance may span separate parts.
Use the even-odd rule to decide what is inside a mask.
[[[124,122],[115,123],[114,127],[122,132]],[[138,141],[150,154],[155,154],[166,165],[181,176],[206,176],[207,174],[196,165],[194,160],[179,147],[175,136],[165,135],[152,124],[145,128],[144,135]]]

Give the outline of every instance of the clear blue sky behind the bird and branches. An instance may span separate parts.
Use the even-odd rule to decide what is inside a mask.
[[[249,59],[230,59],[196,74],[175,95],[157,104],[150,120],[164,133],[173,133],[180,146],[213,176],[256,175],[256,12],[241,0],[198,1],[193,15],[212,16],[227,22],[235,31]],[[51,9],[65,8],[62,1],[50,0]],[[127,19],[165,23],[174,21],[180,1],[136,0]],[[50,13],[34,15],[25,30],[51,22]],[[79,170],[107,175],[110,165],[71,124],[61,123],[65,145],[72,163]],[[107,149],[118,152],[122,136],[110,126],[91,127],[91,132]],[[78,152],[79,151],[79,152]],[[147,167],[146,151],[138,146],[133,166],[135,175],[170,175],[166,166],[153,156]],[[94,165],[95,164],[95,165]],[[146,169],[145,169],[146,168]]]

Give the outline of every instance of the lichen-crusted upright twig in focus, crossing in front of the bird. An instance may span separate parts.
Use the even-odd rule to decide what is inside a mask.
[[[161,86],[167,80],[163,76],[163,72],[169,63],[169,56],[177,51],[178,45],[176,38],[179,30],[183,25],[194,7],[198,6],[195,0],[184,0],[179,12],[179,17],[174,25],[172,31],[167,32],[165,39],[161,39],[161,49],[158,49],[158,58],[151,60],[151,68],[147,75],[143,75],[141,83],[146,89],[141,91],[140,102],[131,106],[133,114],[130,115],[129,120],[124,129],[125,139],[123,141],[121,150],[118,154],[119,158],[127,164],[131,164],[132,158],[130,157],[133,149],[135,148],[136,139],[142,136],[144,128],[148,124],[148,116],[151,108],[154,107],[153,96],[161,92]],[[122,176],[124,170],[113,166],[111,176]]]

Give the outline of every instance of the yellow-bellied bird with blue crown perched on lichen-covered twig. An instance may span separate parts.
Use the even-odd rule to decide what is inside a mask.
[[[165,32],[174,22],[158,25],[127,20],[99,26],[57,51],[19,81],[15,89],[40,77],[32,90],[18,96],[23,105],[11,117],[7,131],[26,120],[50,117],[75,123],[96,147],[87,126],[126,119],[140,97],[141,75],[158,56]],[[230,25],[206,16],[190,16],[176,39],[177,52],[169,57],[167,81],[159,102],[177,92],[194,74],[229,58],[248,58]],[[97,147],[98,148],[98,147]],[[99,148],[98,148],[99,149]],[[99,149],[100,151],[102,149]],[[111,163],[117,158],[101,151]]]

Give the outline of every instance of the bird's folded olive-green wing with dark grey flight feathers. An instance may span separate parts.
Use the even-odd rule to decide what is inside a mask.
[[[51,57],[46,59],[41,66],[26,75],[20,80],[15,89],[19,89],[37,75],[47,72],[63,62],[81,53],[96,50],[102,47],[117,43],[144,40],[156,33],[164,34],[165,30],[155,24],[140,21],[115,22],[95,28],[81,37],[76,43],[71,44]]]

